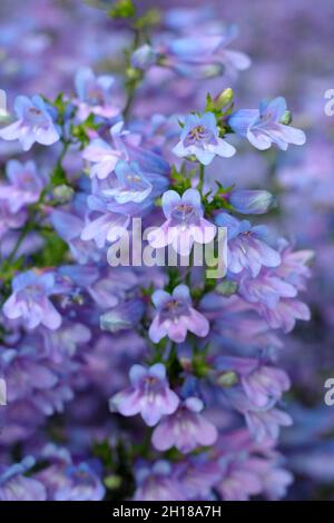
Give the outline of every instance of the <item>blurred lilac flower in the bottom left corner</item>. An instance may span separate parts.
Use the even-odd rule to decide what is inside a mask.
[[[9,467],[0,465],[0,501],[46,501],[46,489],[33,477],[23,474],[35,465],[31,456]]]

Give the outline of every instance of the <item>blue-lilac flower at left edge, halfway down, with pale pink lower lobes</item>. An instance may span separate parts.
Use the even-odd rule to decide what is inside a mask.
[[[28,329],[40,324],[51,329],[60,326],[61,316],[49,299],[55,294],[55,276],[51,273],[21,273],[13,278],[12,290],[3,305],[3,314],[8,318],[21,318]]]

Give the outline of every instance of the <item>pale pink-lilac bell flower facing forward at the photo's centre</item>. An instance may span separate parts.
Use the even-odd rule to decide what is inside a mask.
[[[207,221],[196,189],[187,189],[183,196],[175,190],[163,195],[163,210],[166,221],[148,234],[148,241],[155,249],[167,245],[183,256],[188,256],[194,241],[207,244],[216,235],[216,226]]]

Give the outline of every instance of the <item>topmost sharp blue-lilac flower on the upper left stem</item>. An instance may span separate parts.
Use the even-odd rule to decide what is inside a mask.
[[[110,90],[114,77],[101,75],[96,77],[89,67],[82,67],[76,75],[76,89],[78,93],[79,119],[85,120],[90,114],[104,118],[114,118],[120,109],[111,103]]]

